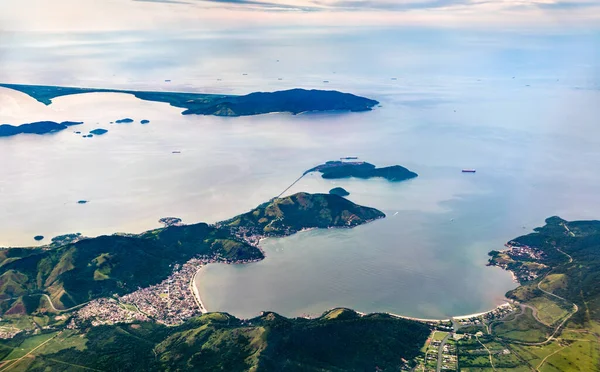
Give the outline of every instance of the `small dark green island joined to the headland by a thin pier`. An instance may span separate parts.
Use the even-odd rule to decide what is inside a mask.
[[[336,178],[373,178],[381,177],[388,181],[404,181],[411,178],[415,178],[418,174],[409,171],[408,169],[394,165],[391,167],[377,168],[373,164],[366,162],[342,162],[342,161],[328,161],[325,164],[317,165],[304,172],[304,174],[310,172],[321,172],[323,178],[336,179]]]

